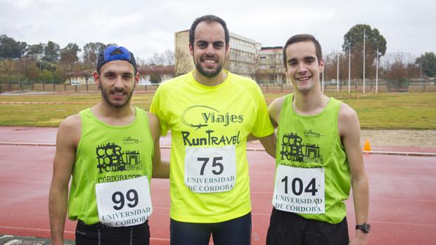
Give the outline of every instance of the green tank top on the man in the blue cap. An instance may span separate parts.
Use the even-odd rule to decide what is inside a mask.
[[[132,124],[111,126],[90,108],[79,112],[82,136],[72,167],[68,218],[98,223],[96,184],[147,176],[151,180],[153,138],[147,114],[135,107]]]

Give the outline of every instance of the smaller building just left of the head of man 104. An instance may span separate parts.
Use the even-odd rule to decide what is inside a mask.
[[[286,84],[283,47],[264,47],[257,55],[256,81],[259,84]]]

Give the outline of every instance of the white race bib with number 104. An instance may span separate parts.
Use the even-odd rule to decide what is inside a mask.
[[[325,213],[323,168],[278,165],[274,185],[274,208],[292,213]]]

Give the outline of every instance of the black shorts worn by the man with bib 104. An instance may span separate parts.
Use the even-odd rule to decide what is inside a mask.
[[[347,245],[349,241],[347,218],[338,224],[331,224],[276,208],[271,213],[267,245]]]

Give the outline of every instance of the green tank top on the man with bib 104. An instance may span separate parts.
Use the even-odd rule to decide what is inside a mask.
[[[324,169],[325,213],[298,214],[333,224],[347,214],[344,201],[351,185],[347,155],[338,133],[339,110],[340,101],[330,98],[319,114],[297,114],[293,94],[288,95],[281,107],[276,150],[276,167]]]

